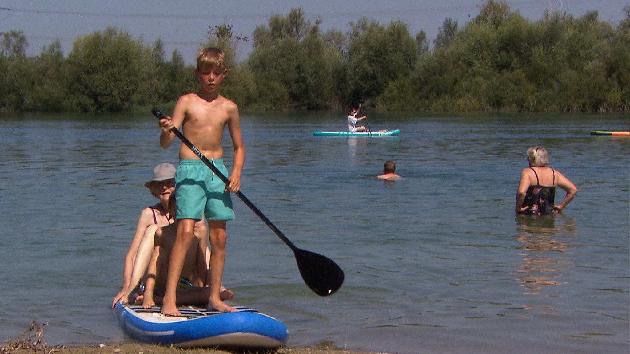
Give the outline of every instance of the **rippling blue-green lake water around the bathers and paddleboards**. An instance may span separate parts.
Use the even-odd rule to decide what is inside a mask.
[[[389,353],[630,350],[630,115],[369,115],[396,137],[315,137],[340,113],[244,114],[241,191],[299,248],[345,271],[318,297],[238,198],[231,304],[288,346]],[[110,310],[152,168],[177,162],[146,115],[0,116],[0,341],[132,341]],[[227,135],[229,136],[229,135]],[[579,188],[556,217],[513,213],[527,147]],[[231,168],[231,144],[224,141]],[[373,178],[391,159],[403,180]],[[564,196],[559,190],[558,199]]]

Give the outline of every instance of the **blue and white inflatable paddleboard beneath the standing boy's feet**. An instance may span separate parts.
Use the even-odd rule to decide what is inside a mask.
[[[144,343],[182,348],[236,346],[278,348],[287,343],[287,326],[277,319],[245,306],[238,312],[208,311],[202,307],[179,307],[182,316],[164,316],[159,307],[123,305],[114,313],[132,338]]]

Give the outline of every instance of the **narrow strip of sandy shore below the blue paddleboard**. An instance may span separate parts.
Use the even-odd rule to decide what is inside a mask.
[[[39,347],[37,349],[11,349],[4,346],[1,349],[3,354],[241,354],[241,353],[261,353],[261,354],[377,354],[360,351],[348,351],[343,349],[314,349],[302,348],[279,348],[278,350],[219,350],[219,349],[178,349],[168,346],[148,345],[138,343],[123,343],[100,346],[64,346],[64,347]],[[383,354],[383,353],[378,353]]]

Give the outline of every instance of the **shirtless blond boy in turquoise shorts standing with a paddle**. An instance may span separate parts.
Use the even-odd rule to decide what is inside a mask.
[[[173,128],[180,128],[183,135],[207,157],[219,171],[227,176],[223,164],[221,140],[227,125],[234,146],[234,166],[226,186],[215,176],[197,155],[185,144],[180,147],[180,164],[175,172],[175,197],[177,200],[177,236],[169,257],[166,292],[161,312],[181,316],[176,306],[176,289],[180,282],[186,251],[193,241],[195,221],[204,213],[208,220],[210,239],[210,298],[209,309],[221,312],[237,311],[220,298],[221,278],[226,257],[226,224],[234,219],[229,192],[236,193],[241,186],[241,170],[245,161],[245,147],[241,135],[236,103],[219,94],[226,76],[225,54],[220,49],[202,49],[197,54],[195,76],[200,83],[197,93],[184,94],[173,110],[173,117],[161,118],[159,127],[160,146],[167,149],[175,139]]]

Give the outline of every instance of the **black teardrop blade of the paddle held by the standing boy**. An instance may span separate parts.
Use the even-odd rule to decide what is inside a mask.
[[[299,269],[304,283],[319,296],[333,295],[343,283],[343,270],[321,254],[294,249],[297,269]]]

